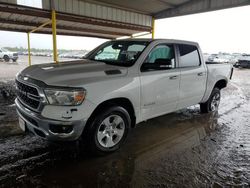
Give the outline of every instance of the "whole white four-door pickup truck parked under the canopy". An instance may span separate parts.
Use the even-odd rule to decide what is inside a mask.
[[[197,43],[109,41],[85,59],[33,65],[16,76],[20,127],[53,141],[83,140],[112,152],[131,128],[191,105],[218,109],[232,76],[228,64],[206,65]]]

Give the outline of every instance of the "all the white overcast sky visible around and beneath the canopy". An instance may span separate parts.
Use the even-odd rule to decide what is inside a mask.
[[[18,3],[39,7],[33,0]],[[39,1],[38,1],[39,2]],[[250,6],[156,20],[155,38],[196,41],[203,52],[250,53]],[[11,40],[10,40],[11,39]],[[27,34],[0,31],[0,47],[27,48]],[[91,50],[105,39],[89,37],[57,37],[59,49]],[[52,49],[52,36],[31,34],[31,47]]]

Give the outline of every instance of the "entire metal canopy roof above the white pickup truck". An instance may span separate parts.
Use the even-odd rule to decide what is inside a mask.
[[[0,30],[29,32],[51,19],[51,0],[42,9],[0,0]],[[54,0],[57,34],[117,38],[152,31],[160,19],[249,5],[250,0]],[[51,33],[50,25],[37,31]]]

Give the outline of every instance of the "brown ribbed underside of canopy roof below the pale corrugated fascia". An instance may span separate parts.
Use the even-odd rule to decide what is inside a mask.
[[[29,32],[50,19],[50,10],[0,3],[0,30]],[[37,31],[44,34],[51,32],[50,25]],[[151,27],[57,12],[58,35],[111,39],[138,32],[151,32]]]

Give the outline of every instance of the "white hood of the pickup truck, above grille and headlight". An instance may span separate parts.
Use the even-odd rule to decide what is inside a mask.
[[[108,65],[91,60],[33,65],[21,72],[22,76],[40,80],[51,86],[79,87],[91,82],[127,75],[126,67]]]

